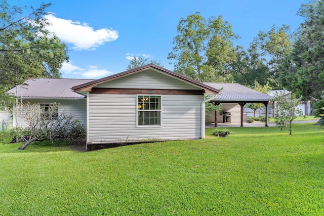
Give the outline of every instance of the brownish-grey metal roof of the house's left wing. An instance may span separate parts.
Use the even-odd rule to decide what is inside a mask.
[[[64,78],[38,78],[28,79],[17,86],[17,96],[23,98],[84,98],[72,91],[75,85],[93,81],[93,79],[64,79]],[[8,93],[16,95],[16,88],[8,91]]]

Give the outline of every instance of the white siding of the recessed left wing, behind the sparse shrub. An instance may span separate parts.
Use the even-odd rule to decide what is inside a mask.
[[[78,119],[84,126],[87,125],[87,101],[86,99],[74,99],[74,100],[60,100],[60,99],[28,99],[23,100],[23,104],[38,104],[38,103],[57,103],[59,104],[59,112],[66,110],[67,113],[73,113],[74,118]],[[17,123],[19,126],[25,125],[25,119],[23,118],[25,109],[22,106],[22,109],[18,111]]]

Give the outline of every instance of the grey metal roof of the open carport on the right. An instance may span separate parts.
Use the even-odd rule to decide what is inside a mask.
[[[214,101],[267,102],[272,99],[272,97],[267,94],[263,94],[238,83],[204,83],[221,90]]]

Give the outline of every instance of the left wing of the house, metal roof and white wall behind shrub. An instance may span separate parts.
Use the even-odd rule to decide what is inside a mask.
[[[68,113],[73,113],[76,119],[86,125],[86,97],[71,91],[71,87],[89,81],[92,79],[28,79],[23,85],[18,85],[8,93],[21,98],[22,104],[40,104],[42,107],[49,107],[50,104],[57,103],[59,111],[66,110]],[[13,126],[24,126],[24,106],[14,104],[13,110]]]

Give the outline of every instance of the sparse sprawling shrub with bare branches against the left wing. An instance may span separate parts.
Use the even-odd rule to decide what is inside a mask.
[[[24,108],[24,113],[19,117],[25,119],[26,125],[15,128],[25,141],[20,150],[25,149],[33,141],[73,143],[80,142],[86,137],[86,130],[80,121],[65,110],[58,112],[58,104],[53,103],[46,110],[39,104],[29,103]]]

